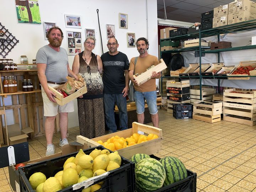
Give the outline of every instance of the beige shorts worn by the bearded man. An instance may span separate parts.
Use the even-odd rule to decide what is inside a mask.
[[[51,87],[58,86],[58,85],[49,84],[49,83],[47,85],[51,86]],[[59,113],[69,113],[69,112],[74,111],[73,101],[70,101],[66,105],[60,106],[57,103],[54,103],[49,100],[49,98],[46,95],[46,92],[44,92],[43,87],[42,87],[42,97],[43,97],[43,105],[44,105],[44,116],[46,116],[46,117],[56,116],[58,114],[58,112]]]

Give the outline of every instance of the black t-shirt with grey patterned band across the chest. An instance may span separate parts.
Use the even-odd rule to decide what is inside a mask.
[[[124,70],[128,70],[130,65],[126,54],[118,52],[116,55],[110,55],[106,52],[101,55],[101,60],[104,69],[103,93],[121,94],[125,87]]]

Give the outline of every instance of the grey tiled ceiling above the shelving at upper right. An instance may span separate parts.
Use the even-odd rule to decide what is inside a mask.
[[[157,0],[158,18],[184,22],[201,22],[201,13],[213,10],[214,7],[226,5],[234,0]],[[256,1],[256,0],[252,0]]]

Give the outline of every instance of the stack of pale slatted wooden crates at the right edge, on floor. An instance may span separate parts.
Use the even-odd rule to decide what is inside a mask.
[[[256,91],[226,89],[223,101],[224,121],[256,125]]]

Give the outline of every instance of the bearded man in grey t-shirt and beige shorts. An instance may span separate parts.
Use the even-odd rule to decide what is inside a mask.
[[[59,146],[68,144],[66,135],[68,132],[68,112],[74,111],[73,102],[59,106],[54,96],[55,94],[48,89],[48,86],[58,86],[66,82],[66,76],[78,79],[69,68],[68,54],[61,46],[63,32],[59,27],[52,27],[47,33],[49,44],[41,47],[36,55],[38,78],[42,86],[42,97],[44,105],[45,133],[47,140],[46,155],[54,154],[52,143],[55,128],[55,117],[59,112],[59,127],[61,139]]]

